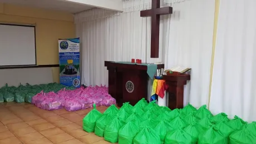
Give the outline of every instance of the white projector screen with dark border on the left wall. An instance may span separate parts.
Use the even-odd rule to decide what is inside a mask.
[[[0,66],[36,65],[35,26],[0,24]]]

